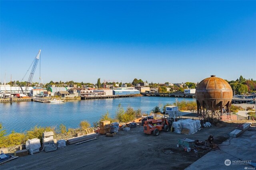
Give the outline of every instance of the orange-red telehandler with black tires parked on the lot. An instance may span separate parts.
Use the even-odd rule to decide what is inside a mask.
[[[164,130],[165,132],[170,130],[168,119],[150,119],[144,122],[144,133],[146,134],[151,134],[153,132],[154,136],[158,136],[161,130]]]

